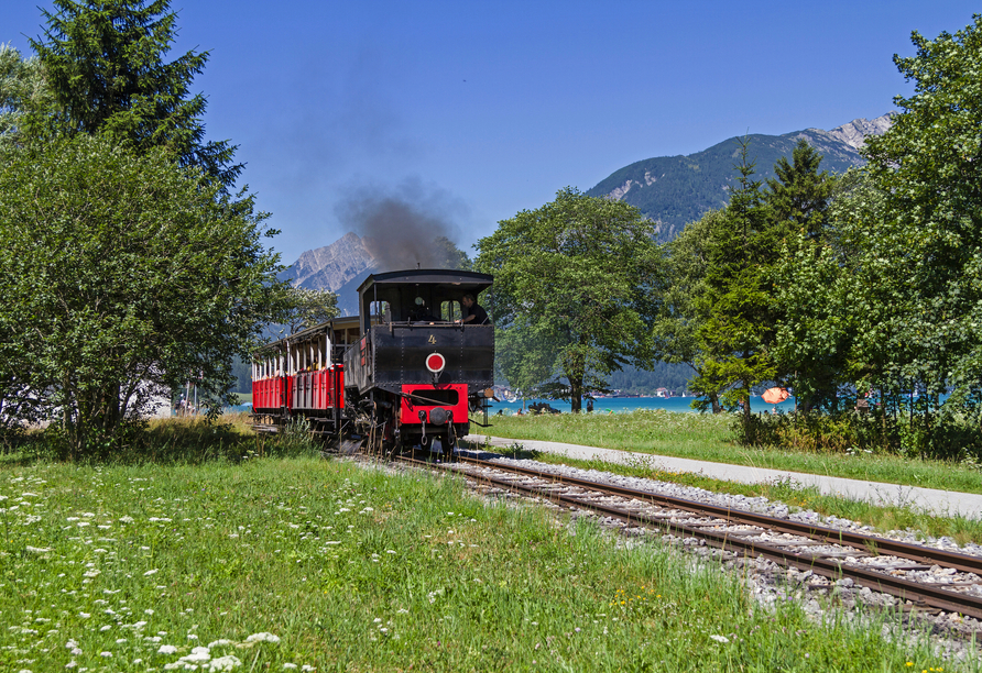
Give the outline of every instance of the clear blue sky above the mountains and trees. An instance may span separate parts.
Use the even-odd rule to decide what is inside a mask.
[[[42,0],[0,7],[29,53]],[[967,1],[174,2],[172,57],[210,60],[211,139],[282,230],[284,263],[350,229],[352,195],[440,210],[470,246],[499,220],[652,156],[831,129],[908,93],[893,54],[954,32]]]

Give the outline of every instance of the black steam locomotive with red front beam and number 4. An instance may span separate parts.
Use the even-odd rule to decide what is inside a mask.
[[[487,274],[413,269],[369,276],[358,289],[360,339],[345,352],[346,396],[362,431],[395,448],[445,450],[470,430],[493,385],[494,328],[459,322],[463,295]]]

